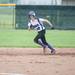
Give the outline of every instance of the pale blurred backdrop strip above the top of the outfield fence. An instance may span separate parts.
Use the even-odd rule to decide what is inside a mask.
[[[18,5],[75,5],[75,0],[0,0],[0,3],[15,3]]]

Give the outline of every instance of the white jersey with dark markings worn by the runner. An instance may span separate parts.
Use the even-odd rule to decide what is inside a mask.
[[[34,21],[30,20],[30,22],[28,23],[28,27],[33,27],[38,32],[42,31],[45,29],[45,27],[43,25],[43,21],[44,21],[44,19],[42,19],[42,18],[35,19]]]

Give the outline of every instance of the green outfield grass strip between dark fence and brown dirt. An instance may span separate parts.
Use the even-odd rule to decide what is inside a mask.
[[[40,47],[33,42],[35,31],[0,30],[0,47]],[[54,47],[75,48],[75,31],[47,30],[46,39]]]

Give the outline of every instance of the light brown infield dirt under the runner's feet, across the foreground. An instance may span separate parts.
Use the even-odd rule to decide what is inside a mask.
[[[75,48],[58,48],[55,55],[42,48],[0,48],[0,75],[13,74],[75,75]]]

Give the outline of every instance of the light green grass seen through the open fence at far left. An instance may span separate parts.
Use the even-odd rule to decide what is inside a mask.
[[[14,24],[13,15],[11,14],[0,14],[0,28],[12,28]]]

